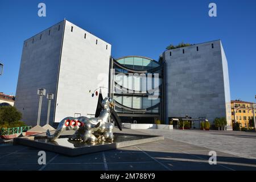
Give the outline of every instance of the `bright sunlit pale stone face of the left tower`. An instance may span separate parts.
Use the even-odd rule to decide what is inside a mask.
[[[55,122],[75,113],[88,117],[95,114],[98,97],[92,97],[93,91],[104,86],[103,96],[108,96],[110,54],[109,43],[66,20]]]

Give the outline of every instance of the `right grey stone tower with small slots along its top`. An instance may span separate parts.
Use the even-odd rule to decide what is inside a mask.
[[[231,122],[226,106],[230,93],[224,56],[220,40],[164,52],[167,118],[188,114],[192,118],[206,117],[211,123],[216,117],[227,117]]]

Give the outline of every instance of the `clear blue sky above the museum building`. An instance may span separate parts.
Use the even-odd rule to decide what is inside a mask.
[[[46,3],[46,17],[38,4]],[[217,5],[217,17],[208,5]],[[169,44],[221,39],[234,100],[255,102],[256,1],[0,0],[0,92],[15,94],[23,41],[64,18],[112,44],[112,56],[158,59]]]

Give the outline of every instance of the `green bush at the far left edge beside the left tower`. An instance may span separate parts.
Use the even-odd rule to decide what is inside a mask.
[[[0,106],[0,127],[19,127],[24,126],[20,122],[22,113],[13,106]]]

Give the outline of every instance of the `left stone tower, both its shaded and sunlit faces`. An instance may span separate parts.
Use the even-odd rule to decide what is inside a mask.
[[[50,124],[71,116],[95,114],[100,86],[108,94],[111,45],[75,24],[63,20],[24,41],[15,107],[23,121],[36,125],[38,88],[55,95]],[[99,90],[98,90],[99,91]],[[40,125],[47,120],[48,101],[43,98]]]

